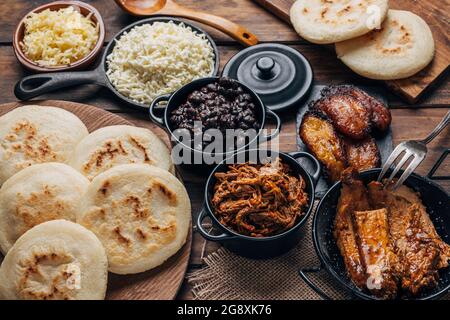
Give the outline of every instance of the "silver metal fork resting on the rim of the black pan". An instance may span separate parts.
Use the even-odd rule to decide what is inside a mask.
[[[398,181],[393,186],[393,190],[397,189],[399,186],[405,182],[405,180],[414,172],[414,170],[420,165],[420,163],[425,159],[427,155],[427,144],[430,143],[436,136],[441,133],[442,130],[450,123],[450,111],[447,112],[447,115],[442,119],[442,121],[437,125],[437,127],[430,133],[428,137],[424,140],[410,140],[400,143],[394,151],[392,151],[391,155],[387,159],[386,163],[381,170],[380,175],[378,176],[378,181],[382,181],[385,174],[394,164],[394,162],[399,159],[397,165],[389,176],[388,180],[385,183],[385,187],[390,185],[392,179],[397,175],[398,171],[405,165],[405,163],[410,159],[408,167],[405,169],[403,174],[400,176]]]

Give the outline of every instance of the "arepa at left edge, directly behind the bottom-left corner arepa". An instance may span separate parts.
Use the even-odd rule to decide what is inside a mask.
[[[0,188],[0,249],[3,254],[34,226],[50,221],[76,220],[78,203],[89,180],[62,163],[25,168]]]

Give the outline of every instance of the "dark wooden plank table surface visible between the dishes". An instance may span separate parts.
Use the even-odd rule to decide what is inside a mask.
[[[0,21],[2,21],[2,28],[0,29],[0,103],[16,100],[13,94],[14,85],[21,77],[27,74],[14,57],[11,45],[16,24],[29,10],[47,2],[49,1],[12,0],[0,2]],[[94,5],[102,14],[107,28],[107,41],[117,31],[136,20],[136,18],[122,12],[112,0],[92,0],[85,2]],[[222,15],[237,23],[243,24],[254,32],[261,42],[279,42],[299,50],[311,62],[316,84],[357,83],[383,86],[380,82],[361,78],[351,72],[338,61],[333,50],[324,46],[313,45],[300,39],[287,24],[272,16],[270,13],[267,13],[251,0],[177,0],[177,2],[193,9],[205,10],[213,14]],[[416,13],[420,14],[420,12]],[[443,25],[446,23],[446,21],[442,21]],[[226,35],[207,27],[205,29],[211,33],[217,42],[220,49],[222,66],[230,57],[242,49],[239,44]],[[128,109],[117,101],[106,89],[87,85],[75,89],[64,89],[43,98],[76,101],[106,109],[132,121],[138,126],[154,129],[161,137],[164,137],[168,141],[165,133],[151,124],[146,114]],[[403,140],[420,139],[431,131],[449,110],[450,83],[448,77],[444,78],[432,92],[427,94],[415,105],[409,105],[393,94],[388,94],[388,99],[393,114],[392,130],[394,145]],[[283,120],[284,127],[280,135],[281,150],[295,151],[295,111],[283,115]],[[417,172],[419,174],[426,174],[446,148],[450,148],[449,129],[444,131],[430,144],[429,155],[425,162],[418,168]],[[449,163],[450,159],[443,165],[440,170],[441,173],[446,172],[448,174],[450,172]],[[193,215],[195,217],[202,205],[204,181],[188,173],[183,173],[183,176],[191,196]],[[441,185],[450,191],[450,183],[441,182]],[[216,249],[216,244],[205,242],[199,234],[195,233],[189,271],[201,268],[202,257]],[[178,298],[192,298],[187,283],[183,284]]]

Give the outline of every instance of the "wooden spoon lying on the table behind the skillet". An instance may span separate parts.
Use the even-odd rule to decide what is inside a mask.
[[[225,18],[206,12],[194,11],[173,0],[115,0],[126,12],[135,16],[167,15],[191,19],[212,26],[246,46],[258,43],[258,38],[246,28]]]

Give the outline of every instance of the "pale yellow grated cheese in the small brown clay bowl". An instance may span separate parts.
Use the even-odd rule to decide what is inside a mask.
[[[22,50],[41,66],[69,65],[84,58],[95,47],[99,34],[91,15],[85,17],[71,6],[31,13],[24,25]]]

